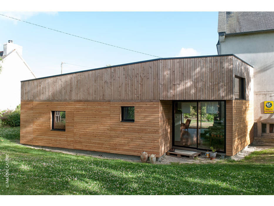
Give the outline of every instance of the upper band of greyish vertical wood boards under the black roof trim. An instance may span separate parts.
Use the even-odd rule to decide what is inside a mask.
[[[251,67],[234,56],[159,59],[21,82],[21,99],[232,100],[238,68]]]

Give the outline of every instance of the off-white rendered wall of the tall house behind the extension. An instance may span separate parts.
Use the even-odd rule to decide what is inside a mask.
[[[261,123],[274,122],[274,114],[265,114],[264,101],[274,101],[274,32],[225,36],[219,54],[235,54],[254,66],[254,121],[261,136]]]

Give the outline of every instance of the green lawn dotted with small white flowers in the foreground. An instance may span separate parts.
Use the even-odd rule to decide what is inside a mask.
[[[240,162],[151,165],[48,152],[0,129],[1,195],[273,195],[273,149]],[[9,187],[5,157],[9,154]],[[263,158],[266,162],[258,163]]]

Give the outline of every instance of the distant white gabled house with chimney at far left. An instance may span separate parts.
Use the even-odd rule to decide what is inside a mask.
[[[22,46],[9,40],[0,51],[3,59],[0,73],[0,110],[15,109],[21,101],[21,82],[36,78],[22,57]]]

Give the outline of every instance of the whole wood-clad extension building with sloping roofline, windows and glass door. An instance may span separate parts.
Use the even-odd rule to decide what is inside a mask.
[[[157,157],[212,146],[233,156],[253,141],[253,122],[253,67],[233,54],[21,82],[21,144]]]

